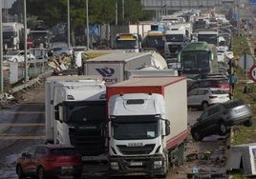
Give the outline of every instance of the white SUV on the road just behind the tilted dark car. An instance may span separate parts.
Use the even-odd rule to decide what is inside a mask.
[[[211,105],[224,103],[230,100],[224,89],[201,88],[192,89],[187,93],[187,107],[206,109]]]

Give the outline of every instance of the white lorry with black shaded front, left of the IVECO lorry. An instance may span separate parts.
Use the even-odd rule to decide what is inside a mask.
[[[46,81],[46,143],[71,144],[83,161],[107,161],[106,87],[100,76]]]

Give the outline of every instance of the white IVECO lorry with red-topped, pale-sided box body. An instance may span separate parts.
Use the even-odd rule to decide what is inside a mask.
[[[107,87],[111,176],[166,176],[183,163],[186,78],[134,77]]]

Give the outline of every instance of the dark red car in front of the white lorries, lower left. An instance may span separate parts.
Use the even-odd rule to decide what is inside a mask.
[[[17,159],[19,179],[32,176],[48,179],[52,176],[81,178],[83,163],[75,147],[70,145],[38,145]]]

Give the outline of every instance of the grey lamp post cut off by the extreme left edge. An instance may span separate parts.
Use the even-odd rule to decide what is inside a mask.
[[[3,72],[3,27],[2,27],[2,1],[0,1],[0,93],[4,92],[4,72]]]

